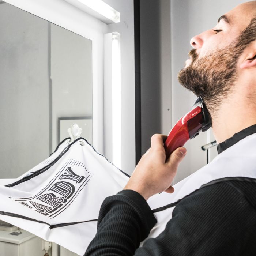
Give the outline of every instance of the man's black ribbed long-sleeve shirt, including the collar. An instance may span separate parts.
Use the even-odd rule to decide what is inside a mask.
[[[256,125],[219,144],[218,152],[252,133]],[[165,230],[139,248],[155,223],[139,193],[107,197],[85,256],[256,255],[256,180],[223,179],[191,193],[176,205]]]

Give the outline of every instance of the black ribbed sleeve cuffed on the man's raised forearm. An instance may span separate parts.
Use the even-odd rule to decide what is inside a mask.
[[[85,256],[133,255],[156,219],[139,193],[124,190],[107,197],[99,212],[98,230]]]

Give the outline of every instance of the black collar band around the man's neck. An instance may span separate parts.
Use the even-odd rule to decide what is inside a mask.
[[[223,141],[222,143],[219,143],[217,146],[217,151],[218,154],[220,154],[221,152],[223,152],[224,150],[226,150],[227,148],[233,146],[234,144],[236,144],[237,142],[239,142],[239,140],[244,139],[245,137],[256,133],[256,124],[247,127],[245,129],[243,129],[242,131],[235,133],[231,138]]]

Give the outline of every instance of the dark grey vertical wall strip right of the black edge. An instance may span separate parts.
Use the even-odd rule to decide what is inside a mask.
[[[142,154],[171,126],[170,1],[140,0]]]

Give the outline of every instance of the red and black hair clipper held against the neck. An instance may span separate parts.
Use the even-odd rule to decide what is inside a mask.
[[[198,97],[193,110],[182,117],[169,132],[164,143],[166,159],[178,147],[183,147],[189,140],[211,127],[211,116],[201,97]]]

